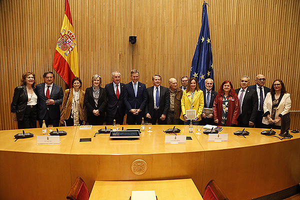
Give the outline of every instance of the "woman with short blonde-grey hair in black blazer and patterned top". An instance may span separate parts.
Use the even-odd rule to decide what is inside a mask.
[[[84,104],[87,109],[87,122],[90,125],[103,125],[104,112],[107,104],[106,90],[100,87],[101,77],[94,74],[91,87],[87,87],[84,94]]]

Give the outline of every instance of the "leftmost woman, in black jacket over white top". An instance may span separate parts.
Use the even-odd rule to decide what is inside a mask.
[[[35,74],[25,72],[21,84],[14,88],[10,111],[18,129],[36,128],[37,95],[34,84]]]

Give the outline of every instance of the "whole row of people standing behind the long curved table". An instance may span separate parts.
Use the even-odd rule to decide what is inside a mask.
[[[240,78],[240,88],[233,89],[229,80],[222,82],[218,92],[213,91],[213,80],[205,79],[205,89],[199,89],[196,78],[181,77],[182,86],[170,78],[169,87],[160,85],[161,76],[152,76],[153,86],[146,88],[138,81],[139,72],[130,71],[131,81],[120,82],[120,73],[111,73],[112,82],[100,87],[101,77],[91,78],[91,87],[83,91],[79,77],[72,79],[72,88],[62,92],[53,83],[54,74],[46,71],[44,82],[35,85],[35,74],[25,72],[21,83],[15,87],[11,102],[13,120],[18,128],[34,128],[36,120],[46,126],[59,123],[70,125],[110,125],[113,120],[123,124],[140,124],[142,117],[155,124],[189,124],[186,110],[195,110],[193,124],[223,126],[280,128],[280,117],[289,112],[291,100],[282,80],[276,79],[271,89],[264,86],[265,77],[258,74],[256,84],[249,86],[249,77]],[[61,106],[60,106],[61,105]],[[203,108],[212,108],[211,113]]]

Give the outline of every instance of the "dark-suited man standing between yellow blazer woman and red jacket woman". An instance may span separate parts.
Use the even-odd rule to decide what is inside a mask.
[[[213,80],[211,78],[205,79],[204,83],[205,83],[205,89],[203,89],[204,108],[212,109],[213,101],[217,92],[212,90]],[[212,110],[211,110],[211,114],[208,115],[202,112],[201,118],[202,120],[200,120],[200,125],[206,125],[206,124],[216,125],[216,123],[214,123],[213,121]]]

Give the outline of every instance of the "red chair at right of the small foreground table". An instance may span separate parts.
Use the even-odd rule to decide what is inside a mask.
[[[228,200],[214,179],[210,180],[204,190],[203,200]]]

